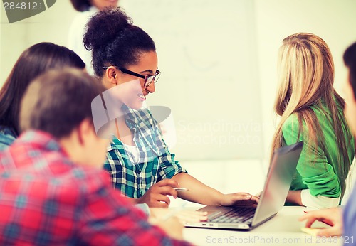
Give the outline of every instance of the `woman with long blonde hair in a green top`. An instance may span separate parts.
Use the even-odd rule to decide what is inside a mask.
[[[312,33],[283,40],[278,57],[275,110],[281,116],[272,150],[304,141],[287,203],[314,208],[340,204],[355,156],[345,102],[335,91],[328,45]]]

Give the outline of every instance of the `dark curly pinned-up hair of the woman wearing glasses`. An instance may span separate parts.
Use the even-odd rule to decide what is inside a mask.
[[[135,65],[142,52],[156,50],[152,38],[132,25],[120,7],[104,9],[90,18],[83,42],[87,50],[93,50],[93,69],[98,77],[103,76],[104,66]]]

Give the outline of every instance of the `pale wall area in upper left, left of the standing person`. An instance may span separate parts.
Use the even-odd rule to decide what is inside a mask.
[[[0,4],[0,85],[6,80],[19,55],[35,43],[53,42],[66,46],[68,27],[75,16],[69,0],[57,0],[42,13],[9,24]]]

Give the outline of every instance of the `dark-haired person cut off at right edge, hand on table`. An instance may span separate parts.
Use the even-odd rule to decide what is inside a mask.
[[[353,43],[344,53],[344,62],[348,68],[348,77],[345,82],[345,116],[356,136],[356,43]],[[343,215],[342,215],[343,213]],[[342,217],[343,216],[343,217]],[[331,228],[318,232],[320,237],[344,235],[345,245],[356,245],[356,188],[350,195],[345,208],[331,208],[308,212],[300,220],[307,220],[305,226],[310,227],[315,220],[330,220]],[[346,240],[347,238],[347,240]]]

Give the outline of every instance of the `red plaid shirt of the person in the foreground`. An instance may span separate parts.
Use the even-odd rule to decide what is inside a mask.
[[[106,171],[74,164],[48,134],[22,134],[0,164],[0,245],[188,245],[147,223]]]

